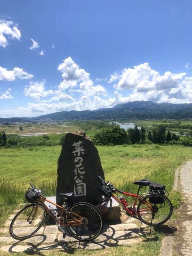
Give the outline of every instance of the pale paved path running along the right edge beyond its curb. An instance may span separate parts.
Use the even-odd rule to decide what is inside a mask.
[[[186,198],[185,220],[182,225],[182,244],[179,255],[192,256],[192,161],[181,168],[180,181]]]

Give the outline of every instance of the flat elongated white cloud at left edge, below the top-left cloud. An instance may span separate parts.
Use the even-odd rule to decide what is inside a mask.
[[[14,81],[18,79],[30,79],[33,75],[25,72],[22,68],[14,68],[13,70],[7,70],[0,66],[0,80]]]

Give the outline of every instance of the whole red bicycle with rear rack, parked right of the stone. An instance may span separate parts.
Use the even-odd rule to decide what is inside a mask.
[[[149,226],[163,224],[171,217],[173,206],[167,197],[169,194],[164,185],[150,182],[149,180],[138,180],[134,182],[134,184],[139,185],[138,192],[137,194],[131,194],[114,188],[113,184],[105,182],[100,176],[98,178],[101,182],[99,191],[102,193],[103,198],[97,208],[100,210],[103,220],[107,218],[111,210],[111,198],[114,198],[126,210],[128,216],[136,218]],[[139,195],[140,189],[143,186],[149,186],[149,190]],[[133,205],[128,206],[128,202],[122,196],[117,198],[114,195],[117,192],[134,197]]]

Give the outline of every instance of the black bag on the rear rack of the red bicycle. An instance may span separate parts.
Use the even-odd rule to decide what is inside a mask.
[[[154,195],[149,198],[151,204],[163,204],[165,199],[162,197],[165,195],[165,185],[151,182],[149,185],[149,194]]]

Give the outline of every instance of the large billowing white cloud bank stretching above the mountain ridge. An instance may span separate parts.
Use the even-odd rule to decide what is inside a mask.
[[[58,66],[58,70],[62,72],[64,80],[57,89],[46,90],[45,81],[31,82],[25,88],[25,95],[38,102],[29,102],[17,110],[0,111],[0,116],[37,116],[58,111],[95,110],[135,100],[192,103],[192,77],[186,77],[184,72],[176,74],[170,71],[161,75],[152,70],[148,63],[114,72],[112,80],[117,79],[115,87],[123,93],[120,94],[116,89],[112,96],[107,95],[106,88],[101,84],[95,85],[90,74],[80,69],[70,57]]]

